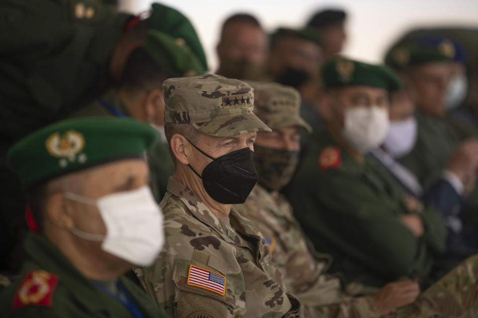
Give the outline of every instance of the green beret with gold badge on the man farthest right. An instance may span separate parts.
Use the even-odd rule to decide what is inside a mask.
[[[453,43],[444,41],[438,46],[408,44],[389,50],[385,64],[395,70],[404,70],[432,62],[449,62],[455,57]]]

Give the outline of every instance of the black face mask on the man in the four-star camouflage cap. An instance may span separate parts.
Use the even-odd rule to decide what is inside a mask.
[[[243,148],[218,158],[212,158],[193,143],[191,145],[204,156],[213,159],[204,168],[202,175],[199,175],[188,164],[189,168],[203,180],[204,189],[211,198],[222,204],[244,203],[257,183],[254,153],[249,148]]]

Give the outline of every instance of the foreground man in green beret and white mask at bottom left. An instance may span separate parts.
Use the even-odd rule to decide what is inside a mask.
[[[2,317],[166,317],[121,276],[154,261],[164,240],[144,158],[155,139],[136,120],[92,117],[44,127],[9,151],[38,233],[1,292]]]

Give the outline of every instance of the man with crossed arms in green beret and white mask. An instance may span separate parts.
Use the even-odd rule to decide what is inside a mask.
[[[292,179],[288,198],[317,250],[347,281],[382,286],[402,276],[427,279],[445,247],[441,216],[405,195],[365,157],[388,130],[388,91],[400,87],[386,67],[345,58],[323,68],[326,130]]]

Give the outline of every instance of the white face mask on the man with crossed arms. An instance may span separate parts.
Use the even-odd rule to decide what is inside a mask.
[[[362,154],[378,147],[388,131],[388,111],[378,106],[347,108],[344,119],[344,138]]]

